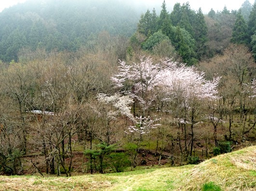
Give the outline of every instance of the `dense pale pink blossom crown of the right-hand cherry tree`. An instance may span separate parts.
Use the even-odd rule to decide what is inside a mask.
[[[204,79],[204,73],[196,71],[195,67],[178,65],[175,62],[165,63],[167,67],[159,73],[157,85],[165,87],[167,94],[182,92],[182,95],[187,98],[217,98],[217,85],[220,77],[207,81]]]

